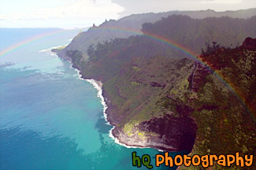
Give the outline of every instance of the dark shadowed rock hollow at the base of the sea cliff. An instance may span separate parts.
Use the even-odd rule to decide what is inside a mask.
[[[153,118],[150,121],[143,121],[139,124],[139,129],[143,132],[154,132],[160,136],[156,136],[158,143],[172,146],[173,150],[186,150],[191,152],[195,142],[196,125],[193,119],[188,117],[173,118],[166,114],[163,118]],[[160,142],[161,141],[161,142]],[[168,148],[160,148],[169,150]]]

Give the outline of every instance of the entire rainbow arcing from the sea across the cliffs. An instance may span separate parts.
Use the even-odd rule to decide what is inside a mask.
[[[218,74],[216,71],[213,70],[213,68],[210,67],[210,65],[206,62],[203,62],[200,58],[198,58],[199,54],[196,52],[191,51],[191,49],[188,49],[187,47],[184,47],[180,44],[178,44],[177,42],[174,42],[171,39],[168,38],[164,38],[161,37],[159,35],[156,34],[148,34],[148,33],[142,33],[140,31],[137,30],[132,30],[132,29],[120,29],[117,27],[91,27],[88,31],[110,31],[110,32],[124,32],[124,33],[128,33],[128,34],[132,34],[132,35],[139,35],[139,36],[143,36],[145,38],[149,38],[152,41],[155,42],[159,42],[161,44],[164,45],[168,45],[169,47],[173,48],[173,49],[177,49],[180,52],[183,52],[186,56],[189,56],[190,58],[196,60],[198,63],[201,63],[203,66],[205,66],[207,69],[209,69],[213,74],[215,74],[217,76],[217,78],[219,78],[222,83],[224,83],[224,85],[233,93],[237,96],[237,98],[241,101],[241,103],[243,104],[243,107],[246,108],[247,113],[250,114],[250,116],[253,118],[254,120],[254,116],[251,114],[249,107],[247,107],[246,103],[243,100],[242,96],[239,96],[239,92],[238,90],[236,90],[234,87],[232,87],[231,83],[228,83],[227,81],[224,80],[223,76],[221,74]],[[64,32],[65,30],[55,30],[55,31],[49,31],[43,34],[37,34],[31,38],[25,39],[21,42],[17,42],[16,44],[10,45],[8,48],[2,50],[0,52],[0,56],[6,56],[9,52],[13,52],[17,49],[22,48],[24,45],[28,45],[31,44],[32,42],[38,41],[42,38],[46,38],[46,37],[50,37],[54,34],[60,34],[62,32]],[[255,121],[255,120],[254,120]]]

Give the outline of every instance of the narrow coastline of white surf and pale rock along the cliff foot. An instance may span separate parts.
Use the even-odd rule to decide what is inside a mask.
[[[52,52],[62,60],[68,61],[70,63],[70,68],[75,69],[78,79],[89,82],[97,90],[97,97],[101,99],[101,104],[103,106],[103,116],[105,118],[106,125],[111,125],[113,127],[109,130],[109,137],[112,138],[115,143],[126,148],[152,148],[154,150],[158,150],[159,152],[177,152],[182,150],[179,148],[179,145],[177,143],[162,143],[160,141],[161,139],[159,138],[152,139],[150,142],[148,142],[148,140],[145,142],[141,141],[140,139],[133,139],[126,136],[124,132],[122,132],[122,130],[114,124],[114,118],[111,115],[108,115],[109,109],[112,109],[112,107],[107,106],[109,100],[107,93],[104,91],[102,81],[97,81],[90,77],[89,79],[88,77],[81,74],[80,67],[76,67],[73,65],[72,58],[70,56],[65,56],[63,52],[53,50]]]

